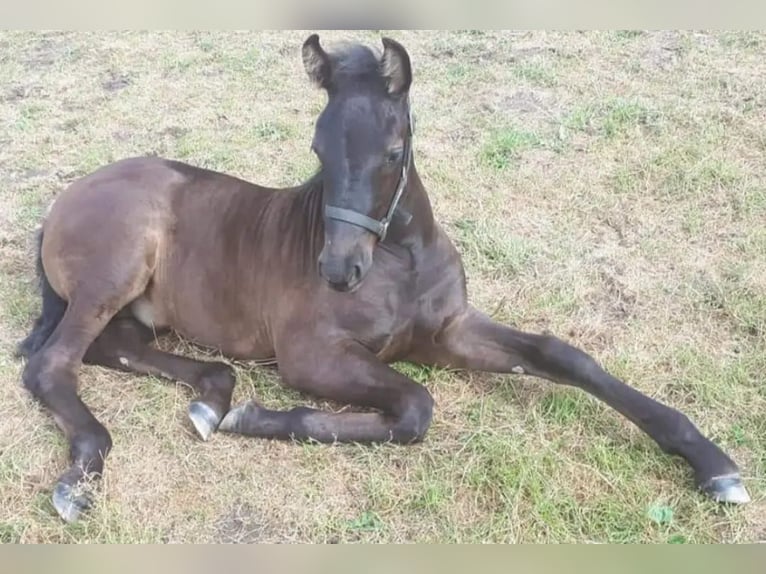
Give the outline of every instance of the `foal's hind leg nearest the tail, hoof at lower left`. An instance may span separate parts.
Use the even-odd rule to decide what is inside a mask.
[[[24,386],[50,410],[70,445],[71,466],[58,479],[53,505],[71,522],[90,506],[84,492],[98,478],[112,447],[109,432],[77,394],[77,371],[82,357],[113,313],[107,305],[73,300],[61,322],[42,348],[30,357],[23,373]]]

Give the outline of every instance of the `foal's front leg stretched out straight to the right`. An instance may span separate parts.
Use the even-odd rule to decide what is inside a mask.
[[[420,363],[477,371],[525,373],[583,389],[632,421],[665,452],[694,469],[697,486],[720,502],[750,497],[737,465],[682,413],[604,371],[583,351],[548,335],[524,333],[469,307],[410,357]]]

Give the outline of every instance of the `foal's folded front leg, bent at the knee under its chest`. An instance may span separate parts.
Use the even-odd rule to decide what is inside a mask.
[[[254,401],[233,408],[219,430],[275,439],[412,443],[431,423],[433,399],[421,385],[355,344],[293,342],[279,353],[280,374],[290,387],[325,399],[380,412],[328,413],[307,407],[273,411]]]

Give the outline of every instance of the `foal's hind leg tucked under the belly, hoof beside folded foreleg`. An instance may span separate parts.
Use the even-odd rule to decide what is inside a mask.
[[[84,362],[191,386],[198,397],[189,405],[189,418],[202,440],[207,440],[231,406],[234,371],[218,361],[198,361],[160,351],[149,345],[152,339],[152,331],[135,319],[115,318],[90,346]]]

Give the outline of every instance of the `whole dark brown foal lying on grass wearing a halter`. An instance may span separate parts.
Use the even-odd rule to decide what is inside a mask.
[[[78,395],[80,365],[181,380],[189,417],[216,430],[320,442],[421,441],[434,401],[391,368],[410,361],[524,373],[579,387],[665,452],[715,500],[749,500],[736,464],[689,419],[605,372],[558,338],[492,321],[466,300],[461,258],[434,220],[413,152],[407,51],[384,38],[326,52],[302,47],[327,104],[312,149],[318,173],[270,189],[159,158],[102,167],[62,191],[40,232],[42,311],[20,345],[26,388],[69,440],[53,503],[67,521],[104,470],[106,428]],[[364,412],[231,408],[234,372],[151,346],[173,330],[223,355],[275,360],[282,382]]]

